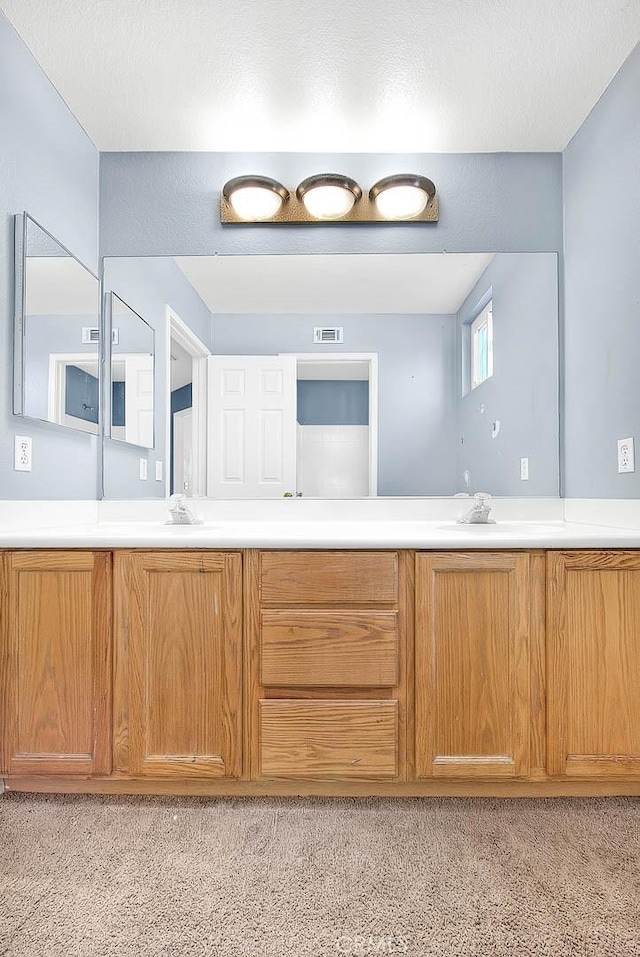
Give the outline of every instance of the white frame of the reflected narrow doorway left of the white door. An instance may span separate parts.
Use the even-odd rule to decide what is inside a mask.
[[[211,350],[198,338],[192,329],[180,318],[178,313],[165,307],[166,312],[166,449],[165,496],[169,497],[171,488],[171,340],[174,339],[193,360],[192,408],[193,408],[193,488],[194,497],[207,494],[207,357]]]

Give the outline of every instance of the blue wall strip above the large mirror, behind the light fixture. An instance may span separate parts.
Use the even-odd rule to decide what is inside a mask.
[[[220,190],[261,172],[295,186],[345,172],[363,186],[398,170],[431,177],[431,226],[221,226]],[[103,153],[100,240],[105,256],[259,253],[560,251],[559,153]]]

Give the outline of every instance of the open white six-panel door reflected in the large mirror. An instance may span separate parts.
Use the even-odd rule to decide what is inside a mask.
[[[295,356],[210,356],[208,364],[207,494],[295,494]]]

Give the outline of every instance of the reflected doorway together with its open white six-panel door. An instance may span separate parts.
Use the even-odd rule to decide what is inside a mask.
[[[221,355],[208,365],[208,495],[377,495],[377,355]]]

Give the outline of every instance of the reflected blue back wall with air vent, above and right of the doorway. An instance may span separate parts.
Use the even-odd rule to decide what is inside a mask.
[[[222,355],[378,354],[378,492],[451,495],[456,441],[455,316],[332,315],[344,343],[311,346],[315,316],[214,315]]]

